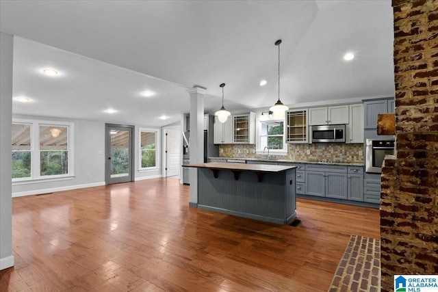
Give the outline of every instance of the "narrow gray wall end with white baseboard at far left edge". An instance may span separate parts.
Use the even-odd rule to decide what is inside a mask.
[[[0,32],[0,269],[14,265],[12,256],[12,36]]]

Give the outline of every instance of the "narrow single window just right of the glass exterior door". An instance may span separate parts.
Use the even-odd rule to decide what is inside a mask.
[[[140,129],[140,170],[157,168],[157,131]]]

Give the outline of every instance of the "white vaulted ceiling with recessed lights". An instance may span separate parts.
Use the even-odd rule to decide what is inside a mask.
[[[189,111],[194,85],[209,113],[220,83],[230,111],[273,105],[279,38],[283,103],[393,96],[392,15],[390,0],[1,0],[0,31],[18,36],[14,98],[32,99],[14,114],[163,126]]]

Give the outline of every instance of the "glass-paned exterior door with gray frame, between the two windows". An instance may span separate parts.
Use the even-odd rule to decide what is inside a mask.
[[[105,124],[105,183],[133,181],[133,126]]]

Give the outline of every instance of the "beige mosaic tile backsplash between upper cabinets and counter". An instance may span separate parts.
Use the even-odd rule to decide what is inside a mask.
[[[307,154],[307,150],[310,150],[310,154]],[[219,156],[261,159],[265,157],[264,155],[257,155],[255,153],[255,145],[249,144],[220,145]],[[287,144],[287,155],[278,156],[278,159],[363,163],[363,144]]]

